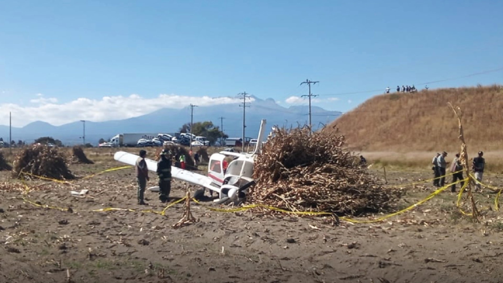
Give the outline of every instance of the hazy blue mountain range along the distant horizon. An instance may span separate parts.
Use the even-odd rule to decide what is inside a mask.
[[[268,129],[273,125],[285,127],[297,127],[304,125],[309,120],[308,106],[282,107],[268,98],[266,100],[253,97],[255,100],[246,107],[246,136],[256,137],[260,127],[260,120],[267,119]],[[336,119],[341,112],[328,111],[320,107],[312,106],[312,125],[316,129],[324,124]],[[223,131],[229,137],[242,136],[243,108],[239,104],[224,104],[216,106],[194,108],[194,122],[212,121],[215,126],[220,127],[223,119]],[[86,143],[98,145],[98,140],[110,137],[118,133],[174,133],[180,127],[190,122],[190,108],[170,109],[164,108],[142,116],[104,122],[86,122]],[[83,134],[82,122],[76,121],[61,126],[54,126],[46,122],[36,121],[24,127],[12,128],[12,139],[24,140],[32,143],[34,139],[41,136],[51,136],[59,139],[65,145],[81,144],[80,138]],[[0,125],[0,137],[4,141],[9,140],[9,126]]]

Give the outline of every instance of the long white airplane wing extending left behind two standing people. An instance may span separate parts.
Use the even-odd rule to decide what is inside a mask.
[[[119,151],[114,154],[114,159],[126,163],[129,165],[135,165],[136,160],[138,159],[139,156],[134,155],[132,153],[128,152],[123,152]],[[147,163],[147,168],[150,171],[156,172],[157,171],[157,162],[145,158],[145,162]],[[171,176],[173,178],[177,178],[186,182],[190,182],[196,185],[203,186],[205,188],[208,188],[210,190],[216,191],[220,193],[220,187],[214,186],[211,183],[213,182],[212,179],[208,176],[201,175],[198,173],[194,173],[188,170],[180,169],[178,167],[172,166],[171,167]]]

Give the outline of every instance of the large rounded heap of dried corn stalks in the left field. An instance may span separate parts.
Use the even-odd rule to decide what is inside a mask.
[[[14,177],[33,177],[22,173],[30,173],[57,180],[75,178],[66,166],[64,155],[57,148],[50,148],[45,145],[34,145],[24,148],[16,156],[13,170]]]

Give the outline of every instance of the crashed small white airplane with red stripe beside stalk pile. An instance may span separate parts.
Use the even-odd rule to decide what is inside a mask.
[[[208,164],[208,176],[172,166],[172,177],[203,186],[206,189],[211,190],[211,192],[217,192],[218,199],[214,200],[214,202],[217,203],[231,201],[239,202],[243,200],[246,196],[247,189],[251,185],[255,184],[255,180],[253,179],[254,159],[255,156],[259,154],[262,147],[262,136],[265,125],[266,120],[263,119],[260,124],[257,144],[255,145],[253,152],[234,153],[222,151],[212,154]],[[224,163],[226,162],[224,159],[228,156],[232,156],[234,159],[228,164],[227,168],[224,168]],[[114,159],[129,165],[135,165],[138,156],[120,151],[115,153]],[[148,170],[156,172],[157,162],[146,158],[145,161],[147,163]],[[152,190],[155,188],[158,189],[158,187],[152,187],[149,189]],[[205,189],[197,190],[194,193],[194,197],[201,198],[204,195],[204,191]]]

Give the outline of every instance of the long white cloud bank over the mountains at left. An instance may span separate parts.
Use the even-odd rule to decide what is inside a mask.
[[[252,99],[253,100],[253,99]],[[31,105],[0,103],[0,124],[9,125],[9,112],[12,112],[13,126],[24,126],[40,120],[53,125],[62,125],[78,120],[101,122],[121,120],[141,116],[162,108],[181,109],[193,103],[198,106],[211,106],[239,103],[239,98],[231,97],[192,97],[175,94],[161,94],[155,98],[142,98],[140,95],[105,96],[101,100],[77,98],[66,103],[58,103],[56,98],[45,98],[37,94],[30,100]]]

